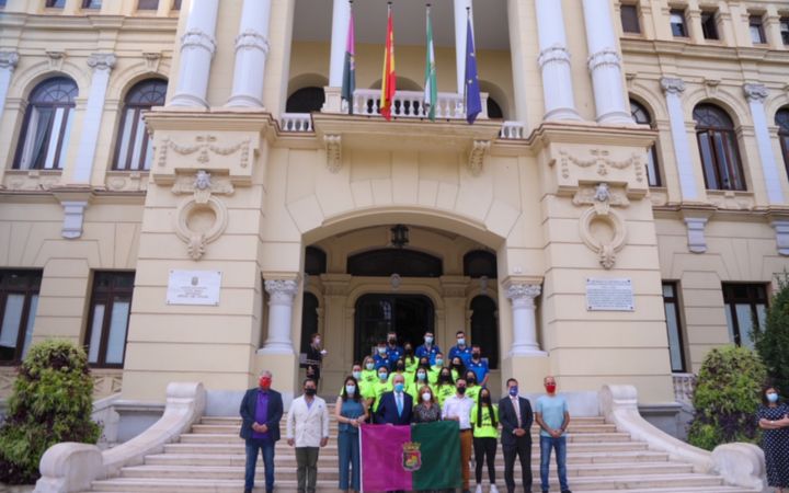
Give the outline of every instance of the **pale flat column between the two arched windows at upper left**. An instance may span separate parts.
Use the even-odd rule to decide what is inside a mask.
[[[95,53],[88,58],[88,66],[93,69],[93,78],[91,79],[88,105],[82,121],[82,134],[77,149],[77,163],[72,183],[90,183],[102,114],[104,113],[106,88],[110,83],[110,72],[115,67],[116,61],[117,58],[113,54]]]

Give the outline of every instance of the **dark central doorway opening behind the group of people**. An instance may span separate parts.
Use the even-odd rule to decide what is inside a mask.
[[[374,346],[388,332],[398,335],[400,345],[422,343],[426,331],[434,332],[435,307],[423,295],[364,295],[356,300],[354,321],[354,360],[373,354]]]

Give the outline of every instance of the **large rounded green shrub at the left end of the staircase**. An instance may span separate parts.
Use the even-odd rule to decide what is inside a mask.
[[[95,444],[92,392],[84,351],[67,341],[32,346],[0,427],[0,482],[35,482],[44,451],[59,442]]]

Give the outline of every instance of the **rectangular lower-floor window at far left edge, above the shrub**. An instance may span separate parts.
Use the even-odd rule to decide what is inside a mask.
[[[41,271],[0,271],[0,363],[20,363],[33,336]]]

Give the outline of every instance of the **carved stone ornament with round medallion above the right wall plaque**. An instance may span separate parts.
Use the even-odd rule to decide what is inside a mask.
[[[601,183],[594,188],[586,190],[590,192],[584,193],[583,196],[591,196],[592,207],[586,209],[586,211],[581,216],[581,240],[590,250],[597,253],[599,264],[603,268],[610,270],[614,268],[617,253],[625,246],[627,240],[625,221],[610,208],[615,205],[613,200],[617,200],[619,203],[617,205],[622,205],[621,199],[615,198],[618,194],[611,193],[606,183]],[[576,194],[576,197],[582,192],[583,191],[580,191],[579,194]],[[627,197],[624,196],[624,194],[622,197],[627,200]],[[573,199],[573,203],[578,204],[575,199]],[[613,238],[595,233],[592,225],[596,221],[602,221],[607,225],[613,231]]]

